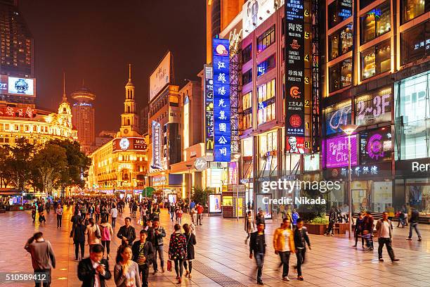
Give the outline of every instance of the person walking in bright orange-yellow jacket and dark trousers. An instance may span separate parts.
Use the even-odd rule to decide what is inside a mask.
[[[289,255],[295,253],[294,248],[294,236],[290,229],[291,222],[288,218],[282,219],[282,225],[280,228],[275,230],[273,234],[273,248],[275,248],[275,254],[279,255],[282,268],[282,280],[289,281]]]

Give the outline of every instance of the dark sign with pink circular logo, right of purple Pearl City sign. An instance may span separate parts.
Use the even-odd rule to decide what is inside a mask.
[[[391,160],[391,128],[360,133],[361,164]]]

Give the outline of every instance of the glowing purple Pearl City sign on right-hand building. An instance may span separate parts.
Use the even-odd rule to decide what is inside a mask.
[[[348,136],[335,136],[323,141],[325,146],[325,166],[348,166]],[[351,166],[358,165],[357,135],[351,136]]]

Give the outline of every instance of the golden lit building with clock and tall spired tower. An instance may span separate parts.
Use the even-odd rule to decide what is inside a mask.
[[[105,193],[117,191],[133,194],[141,192],[145,185],[148,139],[139,134],[134,90],[129,65],[121,127],[115,139],[91,153],[93,162],[89,170],[89,189]]]

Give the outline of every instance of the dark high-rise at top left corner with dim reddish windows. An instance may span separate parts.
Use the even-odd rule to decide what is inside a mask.
[[[0,74],[34,77],[34,39],[18,1],[0,1]]]

